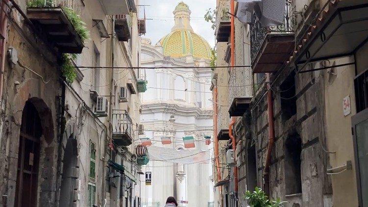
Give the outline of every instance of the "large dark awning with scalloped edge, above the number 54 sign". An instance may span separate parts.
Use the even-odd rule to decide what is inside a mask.
[[[367,0],[329,1],[301,37],[290,61],[298,64],[300,71],[309,62],[349,56],[368,41],[367,37]]]

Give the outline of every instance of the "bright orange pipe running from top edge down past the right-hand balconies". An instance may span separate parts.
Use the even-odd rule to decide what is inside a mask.
[[[230,13],[234,14],[234,0],[230,1]],[[231,30],[230,30],[230,52],[231,52],[231,58],[230,58],[230,68],[231,70],[233,70],[234,64],[235,64],[235,24],[234,24],[234,15],[230,15],[230,23],[231,23]],[[232,133],[232,126],[235,124],[235,117],[232,118],[232,121],[229,123],[229,137],[231,138],[232,141],[232,148],[234,150],[234,156],[235,155],[235,151],[237,150],[237,144],[236,144],[236,140],[235,137],[233,136]],[[234,157],[235,158],[235,157]],[[237,192],[237,165],[234,166],[234,185],[235,185],[235,189],[234,191]]]

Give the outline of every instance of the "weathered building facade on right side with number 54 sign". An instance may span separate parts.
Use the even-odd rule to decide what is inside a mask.
[[[246,76],[229,78],[241,204],[259,186],[290,207],[367,205],[366,3],[287,0],[279,26],[265,26],[259,14],[247,19],[239,9],[249,4],[238,3],[250,43],[240,54],[250,58],[254,82],[242,105],[230,85],[246,85]],[[237,62],[236,23],[235,62],[247,65]]]

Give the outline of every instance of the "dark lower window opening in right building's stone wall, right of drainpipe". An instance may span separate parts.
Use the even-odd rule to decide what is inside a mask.
[[[302,192],[301,152],[302,141],[299,134],[290,135],[285,141],[285,189],[287,195]]]

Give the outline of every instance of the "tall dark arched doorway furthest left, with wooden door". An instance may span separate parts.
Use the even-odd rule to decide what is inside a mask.
[[[36,207],[40,161],[41,120],[36,107],[27,101],[19,137],[15,207]]]

